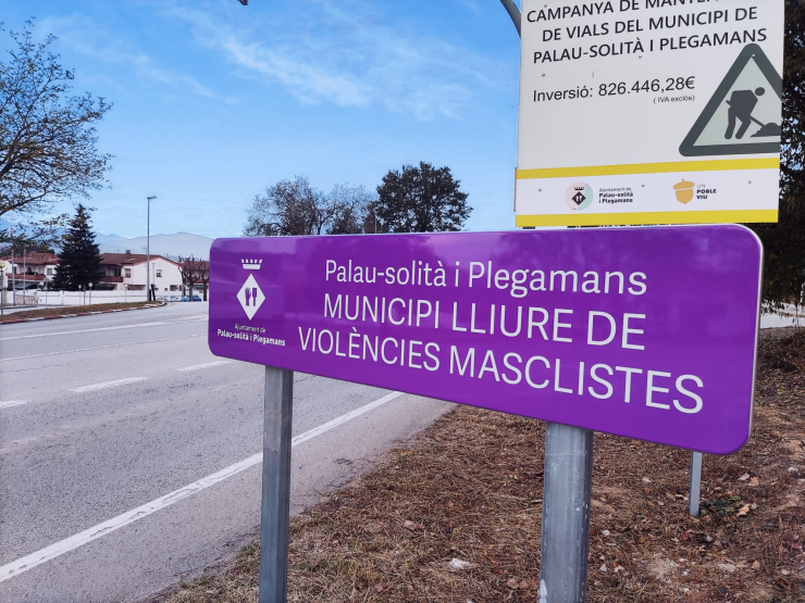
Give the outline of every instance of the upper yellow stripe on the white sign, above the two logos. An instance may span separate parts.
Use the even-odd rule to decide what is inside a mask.
[[[677,161],[671,163],[632,163],[628,165],[589,165],[586,167],[548,167],[518,169],[518,180],[534,178],[583,178],[627,174],[669,174],[673,172],[731,172],[734,169],[779,169],[780,158],[723,159],[716,161]]]

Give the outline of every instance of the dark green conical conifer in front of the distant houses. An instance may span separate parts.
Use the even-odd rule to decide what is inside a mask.
[[[95,233],[90,227],[89,212],[81,203],[75,210],[75,217],[70,221],[70,228],[64,236],[64,244],[59,254],[59,266],[53,277],[53,289],[77,291],[87,288],[90,282],[98,285],[103,273]]]

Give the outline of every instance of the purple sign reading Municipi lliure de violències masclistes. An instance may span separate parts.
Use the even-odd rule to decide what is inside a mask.
[[[731,225],[218,239],[210,349],[727,454],[761,260]]]

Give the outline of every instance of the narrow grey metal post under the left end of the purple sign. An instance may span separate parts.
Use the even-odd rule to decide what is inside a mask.
[[[290,416],[294,372],[265,367],[260,603],[285,603],[290,513]]]

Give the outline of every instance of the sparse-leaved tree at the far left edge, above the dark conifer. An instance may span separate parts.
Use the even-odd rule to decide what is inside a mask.
[[[103,186],[111,155],[98,152],[95,124],[112,105],[70,95],[73,72],[48,50],[57,38],[34,41],[33,21],[10,36],[0,61],[0,216],[13,212],[30,224],[53,203]]]

